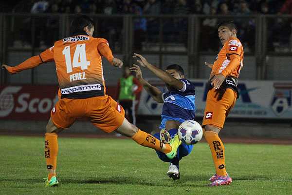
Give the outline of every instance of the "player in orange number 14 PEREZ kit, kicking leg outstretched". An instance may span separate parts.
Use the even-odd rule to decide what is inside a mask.
[[[80,16],[71,23],[71,36],[55,42],[54,46],[16,67],[2,65],[11,74],[55,61],[61,97],[51,111],[46,126],[45,158],[49,172],[46,186],[58,185],[56,179],[58,134],[69,128],[77,118],[89,118],[91,123],[104,132],[116,131],[142,146],[176,156],[181,141],[176,137],[164,144],[155,137],[139,130],[125,118],[124,109],[106,95],[102,70],[102,56],[117,67],[123,62],[112,56],[106,39],[93,38],[94,22]]]

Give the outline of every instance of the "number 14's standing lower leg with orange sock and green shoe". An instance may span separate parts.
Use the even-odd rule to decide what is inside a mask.
[[[58,134],[63,131],[55,126],[51,118],[46,126],[45,134],[45,158],[47,163],[48,178],[46,179],[46,186],[57,186],[56,180],[56,167],[57,167],[57,155],[58,155]]]

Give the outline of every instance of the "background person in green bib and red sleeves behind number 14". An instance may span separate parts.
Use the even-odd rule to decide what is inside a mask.
[[[125,110],[125,116],[130,123],[136,124],[136,96],[142,91],[142,85],[135,78],[128,66],[124,67],[123,77],[119,79],[117,86],[117,95],[120,105]]]

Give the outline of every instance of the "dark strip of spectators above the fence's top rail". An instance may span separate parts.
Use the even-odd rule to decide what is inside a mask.
[[[14,12],[89,14],[276,14],[292,11],[291,0],[20,0]]]

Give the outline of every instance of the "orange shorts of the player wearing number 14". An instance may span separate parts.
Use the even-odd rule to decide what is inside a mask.
[[[86,99],[60,99],[51,111],[56,127],[67,129],[77,118],[86,117],[93,125],[110,133],[120,127],[125,119],[125,110],[110,96]]]

